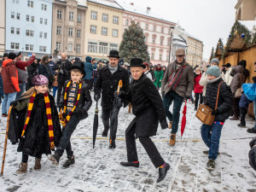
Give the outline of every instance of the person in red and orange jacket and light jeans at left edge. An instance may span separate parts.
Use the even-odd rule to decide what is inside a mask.
[[[3,61],[2,77],[3,77],[3,103],[2,116],[7,117],[7,110],[10,102],[15,101],[17,92],[20,91],[18,71],[15,67],[16,55],[9,53],[8,60]]]

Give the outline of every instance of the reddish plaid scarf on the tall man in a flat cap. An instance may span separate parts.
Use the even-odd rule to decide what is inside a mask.
[[[170,79],[168,80],[168,87],[171,87],[172,90],[175,90],[177,87],[177,84],[179,84],[180,79],[183,76],[183,69],[186,67],[187,62],[183,60],[180,67],[178,67],[177,70],[177,62],[174,61],[172,63],[172,75],[170,76]]]

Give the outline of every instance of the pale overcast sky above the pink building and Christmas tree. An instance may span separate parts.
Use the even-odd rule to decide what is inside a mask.
[[[150,7],[154,14],[178,22],[204,44],[203,58],[209,59],[218,38],[224,44],[236,20],[237,0],[125,0],[134,6]]]

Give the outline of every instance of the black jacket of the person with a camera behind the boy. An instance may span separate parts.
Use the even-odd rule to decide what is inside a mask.
[[[64,84],[65,81],[70,80],[70,71],[72,63],[70,61],[57,61],[55,67],[52,67],[52,70],[58,70],[58,84]]]

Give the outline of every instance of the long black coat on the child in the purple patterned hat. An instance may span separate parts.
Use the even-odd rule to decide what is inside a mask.
[[[54,142],[58,146],[61,140],[61,125],[55,101],[49,95],[49,102],[51,107],[52,122],[54,128]],[[46,108],[44,102],[44,94],[37,94],[35,96],[30,120],[26,127],[25,137],[21,137],[21,132],[26,120],[26,110],[29,103],[29,98],[20,99],[18,105],[12,109],[12,117],[9,124],[9,139],[15,143],[15,138],[20,139],[18,151],[26,154],[36,156],[37,154],[50,154],[49,143],[49,128],[48,119],[46,115]],[[18,136],[15,134],[19,134]]]

